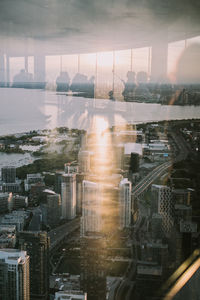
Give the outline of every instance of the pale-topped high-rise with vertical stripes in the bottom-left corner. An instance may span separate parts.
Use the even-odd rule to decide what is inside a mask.
[[[29,300],[29,256],[17,249],[0,250],[0,299]]]

